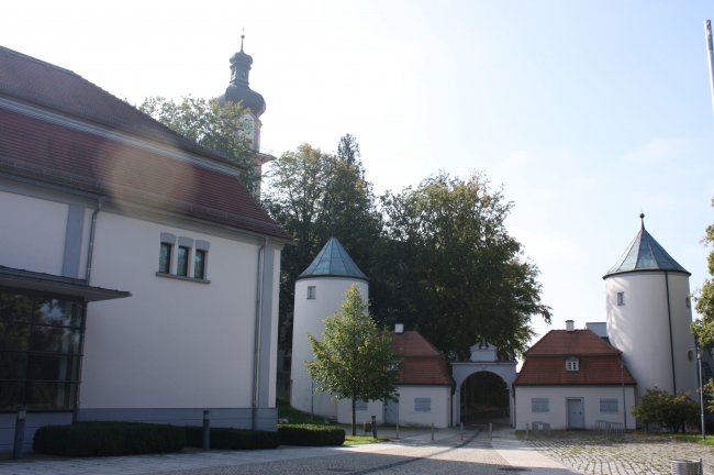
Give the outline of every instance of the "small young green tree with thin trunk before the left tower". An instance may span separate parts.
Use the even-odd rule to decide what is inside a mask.
[[[352,433],[357,433],[356,401],[379,400],[395,395],[399,357],[392,338],[380,331],[369,316],[367,302],[353,285],[345,292],[342,313],[324,320],[322,341],[309,334],[315,358],[306,363],[315,390],[337,399],[352,399]]]

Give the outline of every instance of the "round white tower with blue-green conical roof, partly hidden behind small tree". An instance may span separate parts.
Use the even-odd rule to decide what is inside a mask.
[[[367,276],[357,267],[336,238],[331,238],[295,281],[292,322],[290,405],[304,412],[337,417],[337,401],[326,393],[314,393],[305,362],[314,356],[308,334],[322,339],[323,320],[341,311],[345,292],[356,285],[369,298]]]

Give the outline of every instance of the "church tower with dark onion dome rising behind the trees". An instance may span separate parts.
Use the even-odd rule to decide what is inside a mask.
[[[243,51],[245,35],[241,35],[241,51],[231,57],[231,82],[225,89],[225,93],[217,97],[219,104],[224,106],[226,102],[243,103],[246,113],[238,118],[236,133],[245,137],[253,148],[253,161],[255,164],[256,175],[261,176],[263,165],[270,162],[274,157],[260,153],[260,115],[266,110],[266,102],[258,92],[250,89],[248,75],[253,65],[253,57]],[[257,196],[260,195],[259,181],[257,184]]]

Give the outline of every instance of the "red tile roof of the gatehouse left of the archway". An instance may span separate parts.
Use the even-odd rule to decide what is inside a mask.
[[[444,355],[415,331],[394,333],[392,349],[402,357],[399,384],[451,386]]]

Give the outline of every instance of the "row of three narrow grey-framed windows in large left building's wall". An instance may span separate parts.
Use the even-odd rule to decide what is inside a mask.
[[[210,247],[208,241],[161,233],[158,274],[205,280]]]

